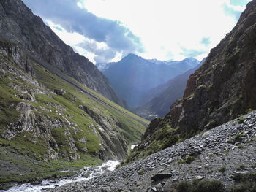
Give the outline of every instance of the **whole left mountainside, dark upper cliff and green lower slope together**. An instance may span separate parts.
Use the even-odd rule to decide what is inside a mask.
[[[1,189],[126,157],[148,121],[107,98],[124,106],[23,1],[0,1]]]

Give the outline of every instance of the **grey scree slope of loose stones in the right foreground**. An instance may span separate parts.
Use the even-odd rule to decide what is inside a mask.
[[[252,112],[113,172],[48,191],[184,192],[192,191],[184,181],[194,179],[195,191],[255,191],[255,134]]]

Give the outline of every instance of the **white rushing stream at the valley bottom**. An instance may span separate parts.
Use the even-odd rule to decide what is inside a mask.
[[[23,185],[13,186],[8,189],[6,192],[40,192],[44,188],[56,188],[56,186],[65,185],[67,183],[78,182],[83,180],[90,180],[91,178],[96,177],[99,174],[105,172],[105,170],[113,171],[116,169],[116,166],[120,163],[120,161],[107,161],[100,166],[89,166],[85,167],[81,174],[78,177],[71,177],[70,179],[63,180],[42,180],[42,183],[38,185],[32,185],[32,183],[25,183]],[[88,175],[88,177],[86,177]]]

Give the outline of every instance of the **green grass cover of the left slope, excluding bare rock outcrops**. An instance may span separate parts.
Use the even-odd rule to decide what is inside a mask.
[[[10,58],[2,54],[0,55],[0,62],[20,71]],[[147,124],[148,121],[80,85],[108,104],[92,99],[89,94],[83,93],[69,82],[39,66],[39,64],[34,63],[33,69],[35,79],[40,84],[39,87],[24,80],[20,77],[20,74],[0,72],[0,134],[7,131],[10,123],[19,120],[20,112],[15,110],[15,106],[20,102],[34,107],[34,115],[37,118],[49,117],[61,122],[68,120],[79,131],[72,131],[72,127],[66,131],[64,128],[57,127],[50,132],[50,137],[53,137],[59,145],[58,153],[62,154],[61,158],[53,161],[45,156],[45,153],[47,153],[45,145],[48,144],[48,141],[40,136],[34,137],[37,131],[23,131],[11,140],[0,137],[0,188],[7,188],[12,182],[27,182],[74,174],[74,170],[81,169],[83,166],[93,166],[102,162],[97,155],[100,141],[90,128],[91,124],[94,124],[95,127],[97,125],[86,112],[80,109],[81,105],[94,109],[94,112],[98,111],[100,115],[115,118],[119,123],[119,131],[124,134],[124,139],[128,145],[140,140],[140,135],[146,130],[141,122]],[[26,97],[29,96],[17,91],[15,88],[17,86],[26,88],[29,92],[37,90],[34,93],[35,100],[27,99]],[[46,94],[40,93],[40,88],[50,91]],[[56,95],[53,93],[54,89],[63,89],[64,94]],[[42,90],[42,92],[45,90]],[[64,110],[56,112],[58,106],[64,107]],[[70,147],[67,146],[69,137],[75,139],[75,146],[78,148],[79,158],[73,161],[69,158],[69,153],[75,153],[72,150],[70,151]],[[86,137],[86,144],[80,142],[83,137]],[[85,147],[87,149],[86,153],[83,152]],[[63,170],[67,172],[62,172]]]

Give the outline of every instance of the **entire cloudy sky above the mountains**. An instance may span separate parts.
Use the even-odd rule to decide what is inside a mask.
[[[202,60],[250,0],[23,0],[93,63],[143,58]]]

